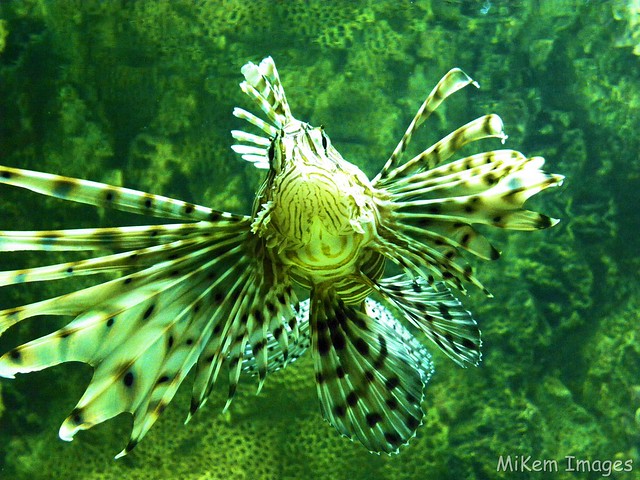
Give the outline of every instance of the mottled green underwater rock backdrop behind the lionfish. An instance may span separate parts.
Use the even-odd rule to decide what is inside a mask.
[[[249,213],[263,172],[231,151],[229,131],[242,126],[231,112],[249,106],[240,67],[267,55],[293,114],[323,124],[370,176],[455,66],[482,88],[449,99],[412,152],[497,113],[509,148],[566,176],[533,202],[557,227],[492,235],[501,260],[477,264],[495,296],[463,299],[482,364],[461,369],[428,345],[426,422],[399,455],[369,454],[322,420],[307,356],[259,396],[244,382],[224,415],[226,388],[216,389],[183,426],[187,380],[118,461],[129,416],[58,439],[91,378],[64,364],[0,380],[0,478],[640,478],[640,1],[2,1],[0,162]],[[0,190],[2,229],[137,218]],[[41,260],[3,254],[0,270]],[[84,284],[73,282],[64,288]],[[0,308],[60,288],[4,288]],[[20,324],[0,352],[59,326]],[[497,471],[500,456],[557,460],[559,471]],[[592,471],[567,471],[567,456]],[[633,471],[605,475],[616,460]]]

